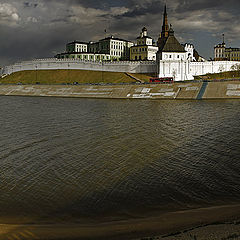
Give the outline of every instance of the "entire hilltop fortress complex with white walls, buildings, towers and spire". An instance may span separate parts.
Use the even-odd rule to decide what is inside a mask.
[[[173,27],[168,25],[166,6],[157,46],[154,46],[146,28],[142,29],[137,38],[137,44],[133,45],[130,41],[114,37],[104,38],[95,43],[74,41],[66,45],[64,53],[56,56],[58,59],[33,60],[6,66],[1,69],[0,75],[23,70],[82,69],[154,73],[159,78],[173,77],[175,81],[185,81],[207,73],[239,69],[240,66],[240,49],[226,48],[224,40],[223,43],[215,46],[215,61],[206,61],[192,44],[181,45],[175,37]],[[154,54],[156,54],[156,60],[154,60]],[[137,61],[117,61],[130,58]]]

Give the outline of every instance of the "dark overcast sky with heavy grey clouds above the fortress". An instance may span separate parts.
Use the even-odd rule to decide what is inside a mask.
[[[157,40],[164,3],[181,43],[209,59],[225,33],[240,47],[239,0],[0,0],[0,66],[53,57],[69,41],[107,35],[135,40],[143,26]]]

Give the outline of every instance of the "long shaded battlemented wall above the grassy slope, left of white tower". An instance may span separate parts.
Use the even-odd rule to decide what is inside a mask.
[[[126,61],[126,62],[91,62],[71,59],[37,59],[24,61],[6,66],[1,70],[1,75],[25,70],[55,70],[55,69],[78,69],[106,72],[129,72],[129,73],[155,73],[157,65],[155,61]]]

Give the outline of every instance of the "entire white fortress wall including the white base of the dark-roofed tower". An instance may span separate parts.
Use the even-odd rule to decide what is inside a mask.
[[[158,64],[157,64],[158,63]],[[157,73],[159,77],[173,77],[174,81],[193,80],[196,75],[232,70],[237,61],[191,62],[189,60],[90,62],[70,59],[38,59],[24,61],[0,69],[0,75],[25,70],[79,69],[106,72]]]

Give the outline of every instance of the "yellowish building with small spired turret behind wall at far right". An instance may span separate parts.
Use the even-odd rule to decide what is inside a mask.
[[[240,61],[240,48],[226,48],[224,41],[214,47],[215,61]]]

